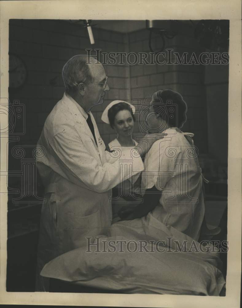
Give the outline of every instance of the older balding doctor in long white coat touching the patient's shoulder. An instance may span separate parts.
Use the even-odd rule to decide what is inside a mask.
[[[41,210],[36,291],[49,290],[48,279],[39,275],[47,262],[85,245],[85,237],[107,233],[112,221],[111,189],[143,170],[140,155],[161,138],[144,137],[136,157],[129,150],[122,152],[122,161],[111,157],[90,112],[109,91],[103,65],[76,55],[64,65],[62,77],[64,96],[47,117],[38,141],[46,150],[37,160],[46,202]],[[126,158],[132,159],[133,170],[119,174]]]

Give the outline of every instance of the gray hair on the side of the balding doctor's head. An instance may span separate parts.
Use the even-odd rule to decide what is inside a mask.
[[[62,70],[62,79],[66,93],[71,94],[76,92],[78,84],[81,82],[92,81],[87,60],[87,56],[76,55],[65,63]]]

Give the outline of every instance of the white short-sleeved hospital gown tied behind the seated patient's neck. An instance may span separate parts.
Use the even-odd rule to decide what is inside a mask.
[[[179,129],[169,128],[165,133],[146,155],[141,188],[155,186],[162,192],[151,215],[198,240],[205,213],[198,149]]]

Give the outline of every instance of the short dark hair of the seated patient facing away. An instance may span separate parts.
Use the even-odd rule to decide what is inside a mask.
[[[155,112],[166,120],[170,127],[181,128],[186,122],[187,104],[180,93],[171,89],[158,90],[152,94],[152,101]],[[174,105],[174,108],[171,105]]]

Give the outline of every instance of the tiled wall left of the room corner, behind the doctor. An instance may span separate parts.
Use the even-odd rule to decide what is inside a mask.
[[[64,63],[73,55],[86,54],[86,48],[103,52],[127,49],[127,37],[113,31],[93,28],[95,44],[89,42],[87,29],[67,21],[10,20],[9,51],[23,59],[28,76],[20,90],[10,90],[10,101],[25,104],[26,133],[20,144],[36,144],[45,119],[63,96],[61,71]],[[111,90],[103,105],[92,109],[100,134],[105,143],[115,137],[109,125],[101,122],[104,108],[114,99],[130,99],[129,68],[106,65]]]

